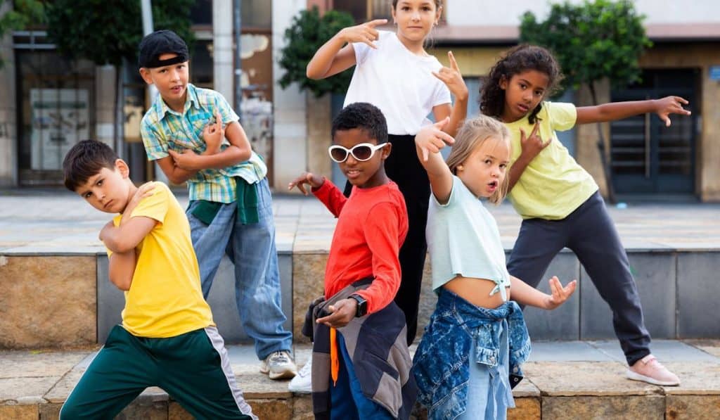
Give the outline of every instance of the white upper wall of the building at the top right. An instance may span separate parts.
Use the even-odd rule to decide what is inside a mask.
[[[459,26],[517,25],[526,11],[544,18],[550,3],[527,0],[445,0],[448,24]],[[580,4],[582,0],[570,0]],[[718,0],[634,0],[635,9],[647,16],[645,24],[720,23]]]

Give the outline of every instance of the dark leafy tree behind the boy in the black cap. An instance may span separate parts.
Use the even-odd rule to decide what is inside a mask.
[[[153,0],[153,22],[157,29],[174,30],[188,45],[194,40],[190,30],[190,8],[194,0]],[[138,0],[54,0],[46,6],[48,37],[58,52],[68,58],[86,58],[98,66],[115,71],[115,147],[122,79],[125,61],[136,66],[143,24]]]

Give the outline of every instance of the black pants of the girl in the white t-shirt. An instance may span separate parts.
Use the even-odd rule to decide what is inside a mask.
[[[414,135],[389,135],[392,143],[390,156],[385,160],[387,177],[397,184],[405,206],[408,207],[408,236],[400,248],[400,269],[402,280],[395,295],[395,303],[405,313],[408,325],[408,346],[415,340],[418,331],[418,304],[420,286],[423,282],[423,267],[428,243],[425,240],[425,225],[428,222],[430,180],[415,152]],[[352,185],[345,184],[344,194],[350,195]]]

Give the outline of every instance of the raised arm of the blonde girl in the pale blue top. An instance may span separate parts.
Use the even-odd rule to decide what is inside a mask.
[[[448,201],[452,191],[452,172],[440,154],[441,148],[455,142],[454,138],[442,131],[449,120],[449,117],[446,117],[433,125],[423,127],[415,135],[415,151],[418,153],[418,159],[428,172],[433,195],[441,204]]]

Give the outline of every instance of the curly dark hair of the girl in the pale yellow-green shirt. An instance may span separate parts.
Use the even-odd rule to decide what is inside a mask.
[[[536,70],[547,75],[549,84],[546,94],[552,94],[562,80],[562,71],[552,53],[536,45],[517,45],[510,48],[495,66],[490,68],[490,74],[487,75],[480,89],[480,112],[500,118],[505,107],[505,91],[500,89],[500,81],[503,79],[510,81],[514,75],[528,70]],[[541,109],[542,102],[530,112],[528,120],[531,124],[535,123],[535,117]]]

